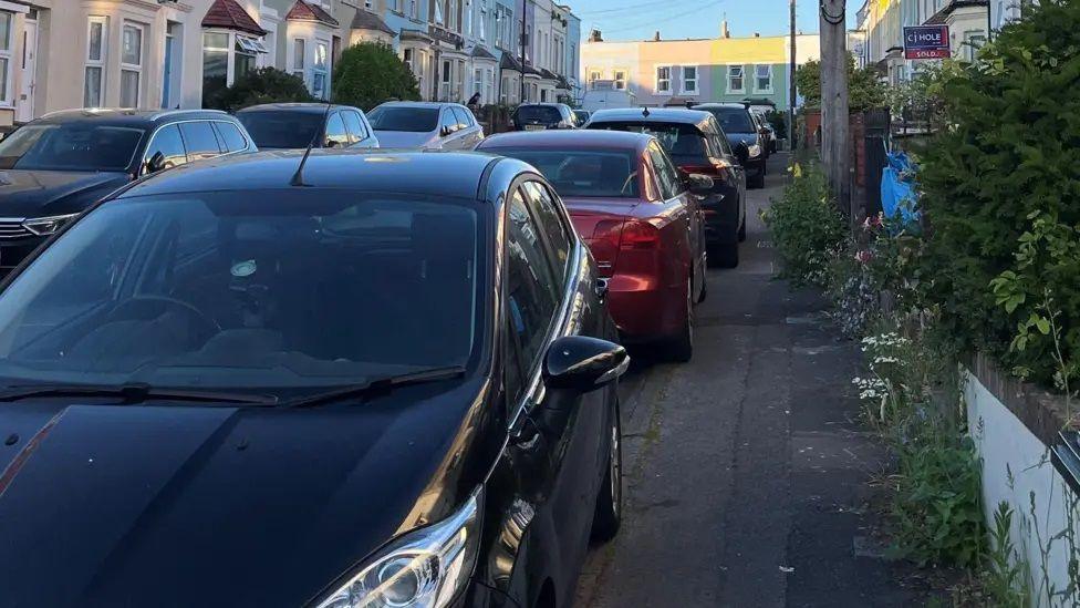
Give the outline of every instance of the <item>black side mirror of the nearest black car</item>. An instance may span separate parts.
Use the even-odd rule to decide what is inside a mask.
[[[543,378],[550,389],[588,393],[614,382],[629,368],[630,354],[623,347],[599,338],[568,336],[548,349]]]

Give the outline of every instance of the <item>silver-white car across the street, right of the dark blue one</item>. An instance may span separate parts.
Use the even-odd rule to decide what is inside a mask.
[[[472,150],[484,127],[459,103],[386,102],[367,114],[383,147]]]

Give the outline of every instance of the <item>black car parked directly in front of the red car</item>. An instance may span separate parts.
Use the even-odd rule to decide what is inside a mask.
[[[708,259],[725,268],[739,265],[746,240],[746,171],[716,118],[708,112],[678,109],[603,110],[586,128],[655,135],[684,175],[713,179],[702,200]]]

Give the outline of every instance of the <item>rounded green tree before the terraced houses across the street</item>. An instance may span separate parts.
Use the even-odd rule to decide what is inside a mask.
[[[382,42],[361,42],[341,54],[334,70],[334,101],[371,110],[386,100],[420,99],[413,71]]]

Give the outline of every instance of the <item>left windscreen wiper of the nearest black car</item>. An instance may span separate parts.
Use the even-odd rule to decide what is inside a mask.
[[[8,387],[8,391],[0,392],[0,402],[19,401],[20,399],[50,396],[101,396],[118,398],[125,405],[143,403],[145,401],[199,401],[219,403],[251,403],[271,405],[278,402],[272,395],[230,393],[219,391],[199,391],[185,389],[155,389],[149,384],[131,383],[121,385],[108,384],[30,384]]]

